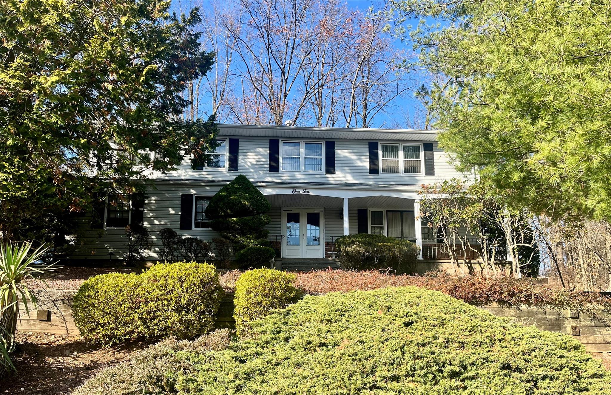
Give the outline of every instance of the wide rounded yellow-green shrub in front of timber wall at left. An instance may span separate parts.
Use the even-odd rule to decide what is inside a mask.
[[[91,342],[188,338],[213,327],[221,296],[214,266],[166,263],[142,274],[89,278],[76,292],[72,309],[81,335]]]

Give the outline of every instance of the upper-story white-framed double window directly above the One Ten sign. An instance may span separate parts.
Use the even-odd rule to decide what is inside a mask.
[[[280,171],[324,172],[324,143],[319,141],[280,142]]]

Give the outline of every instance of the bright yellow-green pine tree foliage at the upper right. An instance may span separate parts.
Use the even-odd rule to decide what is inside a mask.
[[[404,17],[439,22],[410,34],[437,81],[419,92],[459,169],[537,213],[610,220],[609,2],[397,4],[399,34]]]

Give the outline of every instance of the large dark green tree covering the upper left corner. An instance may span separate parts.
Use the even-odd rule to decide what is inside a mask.
[[[192,31],[197,9],[179,17],[169,5],[0,2],[3,238],[58,245],[75,213],[109,190],[131,194],[144,170],[172,170],[188,154],[205,160],[214,118],[180,117],[188,82],[214,54]]]

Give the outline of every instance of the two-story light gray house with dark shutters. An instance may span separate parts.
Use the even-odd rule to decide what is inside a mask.
[[[422,184],[464,176],[437,147],[430,130],[219,125],[219,147],[205,167],[185,161],[152,172],[142,201],[110,196],[104,231],[71,259],[120,258],[124,227],[141,222],[152,236],[147,258],[158,259],[158,232],[211,240],[204,210],[222,186],[243,174],[271,203],[269,238],[281,258],[329,258],[338,236],[376,233],[413,241],[420,258],[443,259],[436,235],[418,220]]]

